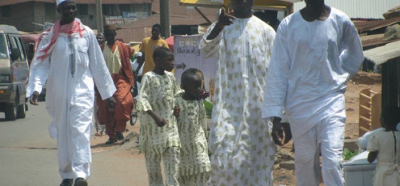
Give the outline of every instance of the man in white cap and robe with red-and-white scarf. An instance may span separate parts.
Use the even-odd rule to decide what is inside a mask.
[[[52,117],[50,136],[57,138],[60,186],[72,186],[74,179],[74,186],[87,186],[94,82],[110,105],[116,88],[93,31],[75,18],[75,1],[57,0],[57,11],[61,18],[38,39],[26,96],[38,105],[47,80],[46,109]]]

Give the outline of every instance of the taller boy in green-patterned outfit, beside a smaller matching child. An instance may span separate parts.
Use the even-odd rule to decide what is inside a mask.
[[[139,93],[139,148],[145,153],[150,186],[163,186],[161,157],[165,184],[178,186],[180,141],[172,112],[180,87],[169,72],[174,66],[174,56],[168,48],[159,47],[154,51],[153,58],[156,66],[143,75]]]

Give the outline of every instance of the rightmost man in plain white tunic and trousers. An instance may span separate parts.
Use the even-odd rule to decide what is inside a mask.
[[[298,186],[319,186],[320,153],[325,186],[343,186],[346,82],[364,60],[351,20],[324,0],[287,16],[277,30],[267,74],[262,117],[273,120],[282,145],[282,111],[289,119]]]

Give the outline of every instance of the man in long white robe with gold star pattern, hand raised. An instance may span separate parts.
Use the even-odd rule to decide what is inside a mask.
[[[218,55],[209,135],[209,186],[272,186],[276,146],[261,109],[275,31],[252,15],[253,0],[231,0],[200,42]]]

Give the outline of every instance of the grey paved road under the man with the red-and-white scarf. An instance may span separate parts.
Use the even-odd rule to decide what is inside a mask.
[[[59,186],[57,144],[48,135],[49,123],[43,102],[29,105],[25,119],[8,122],[0,113],[0,186]],[[106,139],[92,139],[97,151],[93,150],[89,186],[148,185],[143,155],[129,151],[134,142],[103,148]]]

